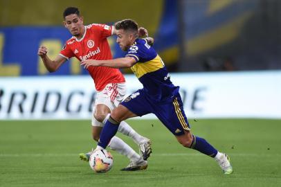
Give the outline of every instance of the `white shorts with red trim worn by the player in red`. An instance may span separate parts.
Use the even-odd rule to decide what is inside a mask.
[[[95,105],[93,105],[92,112],[92,126],[103,127],[103,124],[96,120],[94,114],[96,112],[96,105],[106,105],[110,111],[116,108],[122,102],[126,94],[126,84],[123,83],[109,83],[102,91],[97,91],[95,97]]]

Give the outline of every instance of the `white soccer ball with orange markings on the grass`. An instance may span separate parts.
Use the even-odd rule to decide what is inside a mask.
[[[108,172],[114,159],[107,150],[95,150],[89,159],[90,167],[95,172]]]

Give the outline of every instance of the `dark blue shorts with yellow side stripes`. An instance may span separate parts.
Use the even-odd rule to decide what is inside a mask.
[[[155,102],[148,98],[142,89],[131,94],[120,105],[123,105],[137,116],[155,114],[172,134],[180,136],[190,130],[188,119],[183,111],[181,96],[176,94],[171,100]]]

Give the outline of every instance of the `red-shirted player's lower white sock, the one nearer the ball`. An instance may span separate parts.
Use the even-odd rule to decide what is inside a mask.
[[[108,145],[111,150],[116,150],[120,154],[125,155],[130,159],[130,161],[133,161],[134,163],[138,163],[142,160],[141,156],[137,154],[127,143],[125,143],[123,140],[119,139],[117,136],[114,136]]]

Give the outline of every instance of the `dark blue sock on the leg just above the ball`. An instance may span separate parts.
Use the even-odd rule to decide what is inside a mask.
[[[100,132],[100,139],[98,140],[98,145],[102,148],[107,148],[109,141],[116,134],[120,123],[115,121],[111,116],[105,123],[105,126],[102,128],[102,132]]]

